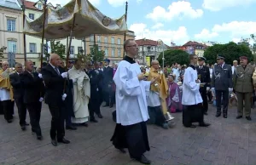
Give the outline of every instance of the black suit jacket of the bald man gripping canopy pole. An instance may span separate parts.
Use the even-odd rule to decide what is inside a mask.
[[[59,71],[60,73],[64,72],[61,68]],[[41,73],[45,84],[45,103],[60,105],[65,79],[50,64],[44,66]]]

